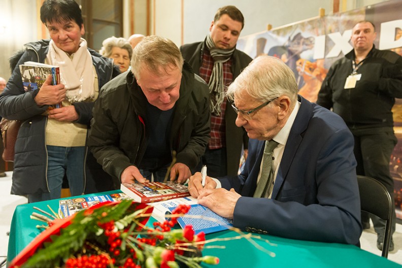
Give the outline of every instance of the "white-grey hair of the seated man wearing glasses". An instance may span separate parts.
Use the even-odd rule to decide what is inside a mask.
[[[271,56],[255,58],[229,85],[229,99],[247,93],[261,102],[286,95],[292,103],[297,100],[297,83],[293,71],[281,60]]]

